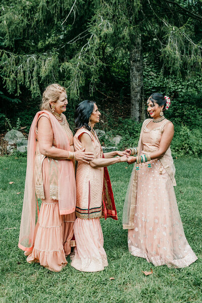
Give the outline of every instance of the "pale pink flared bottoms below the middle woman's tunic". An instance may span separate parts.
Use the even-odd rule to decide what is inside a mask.
[[[71,266],[79,271],[97,272],[108,266],[107,255],[103,247],[103,231],[99,218],[80,219],[74,224],[76,247]]]

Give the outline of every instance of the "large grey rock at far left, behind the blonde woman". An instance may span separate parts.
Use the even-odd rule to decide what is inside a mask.
[[[8,153],[12,153],[15,149],[21,153],[27,151],[27,139],[18,130],[12,129],[8,131],[4,137],[4,140],[8,142]]]

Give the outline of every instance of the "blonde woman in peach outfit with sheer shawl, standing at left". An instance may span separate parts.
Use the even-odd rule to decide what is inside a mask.
[[[88,163],[94,158],[84,149],[74,151],[73,134],[63,114],[67,104],[64,87],[57,83],[47,86],[41,111],[32,122],[18,244],[28,256],[28,263],[40,263],[56,272],[67,264],[65,256],[75,246],[72,240],[76,206],[74,161]],[[42,203],[40,212],[37,203],[35,225],[36,197]]]

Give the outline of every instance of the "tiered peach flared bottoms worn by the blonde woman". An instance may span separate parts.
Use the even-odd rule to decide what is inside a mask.
[[[67,265],[66,255],[71,252],[71,239],[74,235],[75,213],[59,214],[58,200],[49,196],[47,158],[42,165],[45,199],[42,200],[38,221],[34,231],[34,246],[25,252],[27,262],[40,263],[45,268],[59,272]]]

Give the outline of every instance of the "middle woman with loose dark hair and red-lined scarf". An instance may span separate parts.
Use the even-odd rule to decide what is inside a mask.
[[[94,154],[94,159],[89,164],[79,162],[76,171],[77,219],[74,223],[74,235],[77,246],[71,265],[86,272],[104,270],[108,266],[99,218],[118,219],[107,166],[128,160],[128,153],[125,151],[103,154],[93,130],[99,117],[97,106],[92,101],[84,100],[76,109],[74,148],[85,148],[85,151]]]

